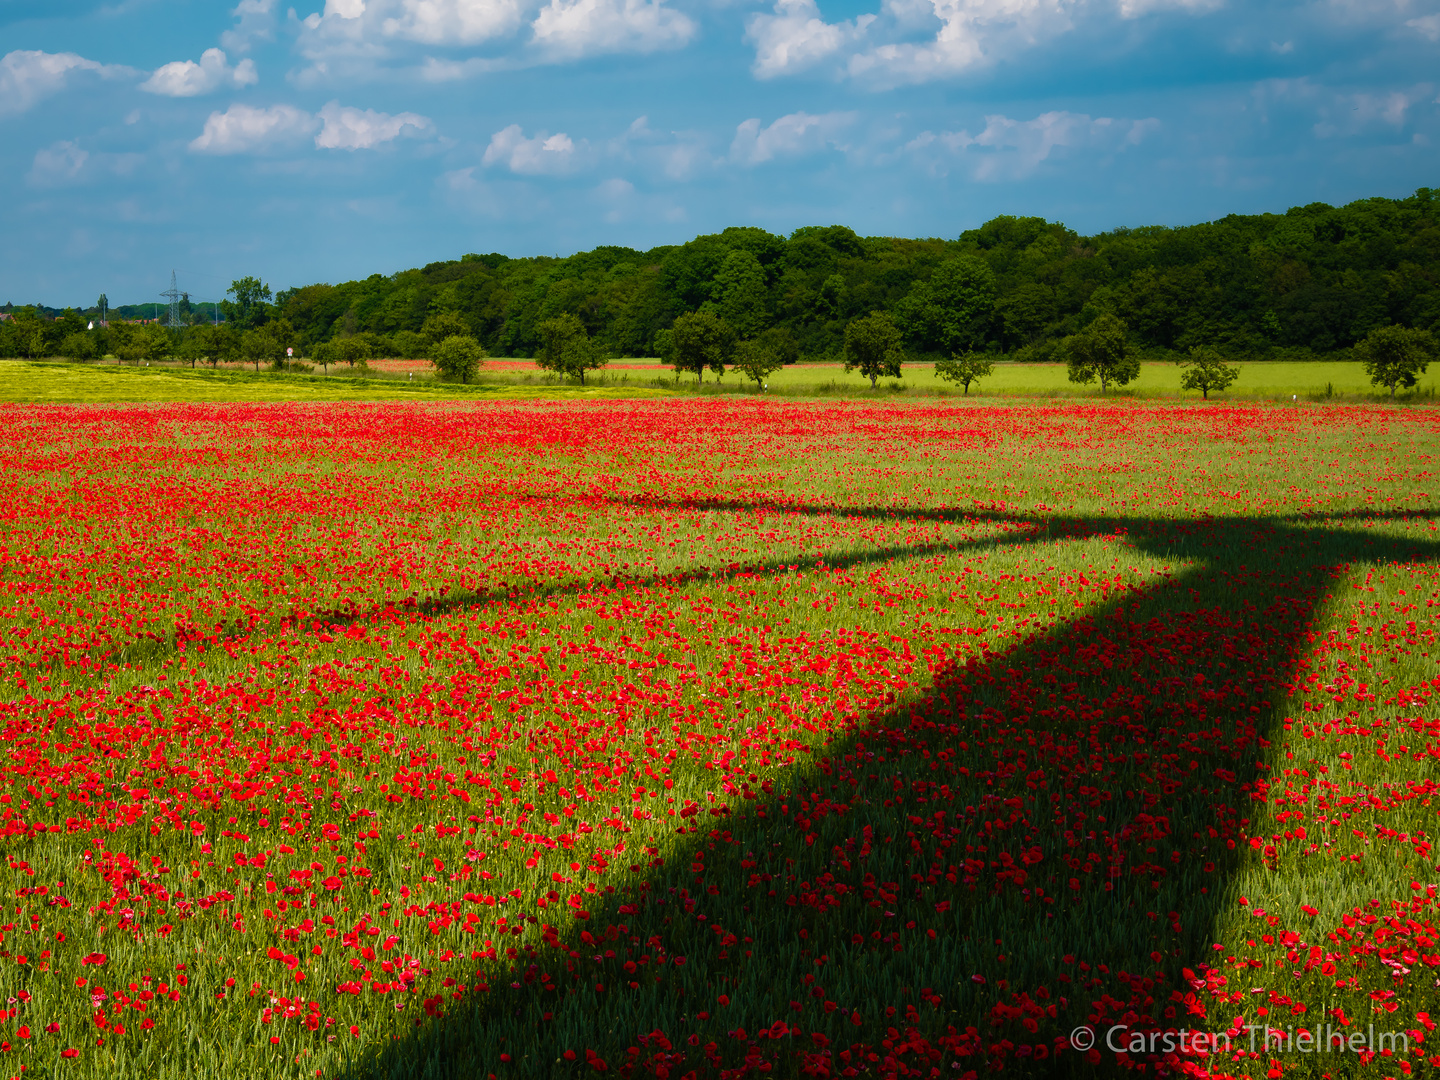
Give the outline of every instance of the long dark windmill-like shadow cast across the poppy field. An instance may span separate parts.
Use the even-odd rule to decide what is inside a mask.
[[[577,1076],[595,1067],[586,1051],[636,1076],[765,1061],[772,1076],[955,1076],[952,1060],[985,1071],[995,1057],[1093,1076],[1073,1051],[1034,1047],[1096,1001],[1136,1027],[1195,1027],[1171,991],[1188,992],[1184,968],[1208,959],[1233,910],[1250,788],[1325,583],[1345,563],[1440,559],[1434,541],[1342,521],[1050,518],[1050,540],[1123,534],[1194,566],[948,664],[789,769],[783,791],[737,778],[753,786],[724,796],[729,812],[703,811],[619,891],[588,897],[589,919],[347,1076]],[[973,546],[1045,539],[1031,520]]]

